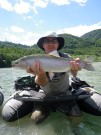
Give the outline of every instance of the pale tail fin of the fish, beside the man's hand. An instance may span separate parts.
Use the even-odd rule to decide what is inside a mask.
[[[83,60],[83,62],[85,63],[85,69],[89,70],[89,71],[95,71],[94,66],[92,65],[93,59],[91,58],[86,58],[85,60]]]

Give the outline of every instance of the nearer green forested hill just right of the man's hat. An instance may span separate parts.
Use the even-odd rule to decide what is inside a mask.
[[[101,55],[101,44],[91,42],[81,37],[76,37],[68,34],[61,34],[65,39],[63,51],[72,55]]]

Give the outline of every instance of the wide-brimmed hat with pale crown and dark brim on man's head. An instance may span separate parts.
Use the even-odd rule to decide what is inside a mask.
[[[42,49],[44,50],[43,48],[43,43],[44,43],[44,40],[45,38],[47,37],[55,37],[57,38],[58,42],[59,42],[59,47],[58,47],[58,50],[61,50],[64,46],[64,38],[63,37],[59,37],[55,32],[51,33],[50,35],[48,36],[44,36],[44,37],[41,37],[38,42],[37,42],[37,45]]]

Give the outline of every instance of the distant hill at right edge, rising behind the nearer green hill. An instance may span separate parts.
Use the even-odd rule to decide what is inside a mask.
[[[82,39],[101,44],[101,29],[93,30],[81,36]]]

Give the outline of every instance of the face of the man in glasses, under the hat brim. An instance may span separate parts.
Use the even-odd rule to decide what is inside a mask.
[[[57,50],[59,46],[57,38],[47,37],[43,42],[43,48],[46,53],[50,53],[54,50]]]

